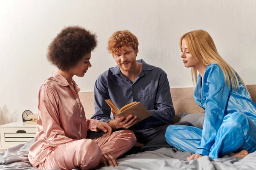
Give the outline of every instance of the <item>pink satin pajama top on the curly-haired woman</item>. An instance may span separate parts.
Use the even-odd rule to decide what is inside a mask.
[[[86,119],[76,82],[73,90],[67,79],[53,72],[38,94],[38,122],[35,143],[29,151],[29,161],[35,167],[42,163],[55,147],[84,139],[87,130],[97,131],[98,120]]]

